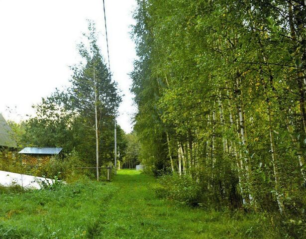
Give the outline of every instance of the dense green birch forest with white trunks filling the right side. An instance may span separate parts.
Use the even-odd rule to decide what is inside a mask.
[[[140,158],[174,175],[165,183],[174,199],[274,212],[302,233],[306,2],[137,3]]]

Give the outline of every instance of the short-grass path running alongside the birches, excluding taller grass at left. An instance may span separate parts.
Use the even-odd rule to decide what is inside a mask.
[[[137,171],[119,171],[113,184],[119,189],[103,210],[102,221],[93,238],[265,238],[250,216],[229,217],[224,213],[175,207],[174,202],[156,198],[153,188],[157,181]]]

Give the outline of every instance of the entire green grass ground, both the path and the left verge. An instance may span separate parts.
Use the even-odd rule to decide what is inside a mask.
[[[121,170],[111,183],[83,181],[55,191],[0,194],[1,239],[278,238],[260,215],[176,206],[154,193],[157,180]]]

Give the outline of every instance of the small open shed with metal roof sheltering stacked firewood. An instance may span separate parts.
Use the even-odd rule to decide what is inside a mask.
[[[63,148],[37,148],[26,147],[19,151],[22,164],[30,166],[41,166],[50,161],[56,155],[60,155]]]

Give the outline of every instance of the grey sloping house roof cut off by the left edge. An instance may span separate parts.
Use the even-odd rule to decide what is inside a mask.
[[[17,143],[15,139],[12,137],[13,131],[9,127],[6,120],[0,114],[0,148],[16,148]]]

